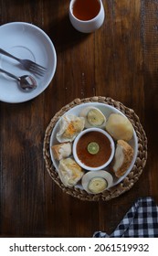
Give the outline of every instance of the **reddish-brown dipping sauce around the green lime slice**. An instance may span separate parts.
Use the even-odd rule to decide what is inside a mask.
[[[96,155],[88,152],[88,144],[95,142],[99,144],[100,150]],[[90,167],[98,167],[104,165],[111,156],[111,143],[109,139],[102,133],[90,132],[80,137],[77,144],[77,155],[79,160]]]

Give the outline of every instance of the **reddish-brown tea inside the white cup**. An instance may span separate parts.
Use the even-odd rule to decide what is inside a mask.
[[[100,2],[98,0],[76,0],[72,12],[80,20],[90,20],[99,14]]]

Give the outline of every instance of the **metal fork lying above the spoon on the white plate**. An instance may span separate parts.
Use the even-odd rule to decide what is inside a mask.
[[[28,71],[30,71],[34,74],[37,74],[38,76],[44,76],[44,74],[47,70],[46,68],[42,67],[41,65],[35,63],[34,61],[32,61],[30,59],[16,58],[16,56],[8,53],[3,48],[0,48],[0,53],[7,57],[12,58],[12,59],[16,59],[25,69],[27,69]]]

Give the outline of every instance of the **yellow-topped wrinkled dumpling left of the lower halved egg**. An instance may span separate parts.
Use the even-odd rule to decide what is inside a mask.
[[[84,172],[82,168],[72,158],[66,158],[59,161],[58,176],[65,187],[75,186]]]

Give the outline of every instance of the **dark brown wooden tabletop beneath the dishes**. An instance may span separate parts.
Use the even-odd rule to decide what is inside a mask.
[[[0,25],[42,28],[57,50],[47,90],[32,101],[0,102],[0,236],[91,237],[111,233],[132,202],[158,203],[158,1],[103,0],[104,24],[90,35],[68,20],[66,0],[4,0]],[[132,189],[107,202],[68,196],[47,173],[43,140],[50,119],[75,98],[111,97],[132,108],[148,138],[148,160]]]

